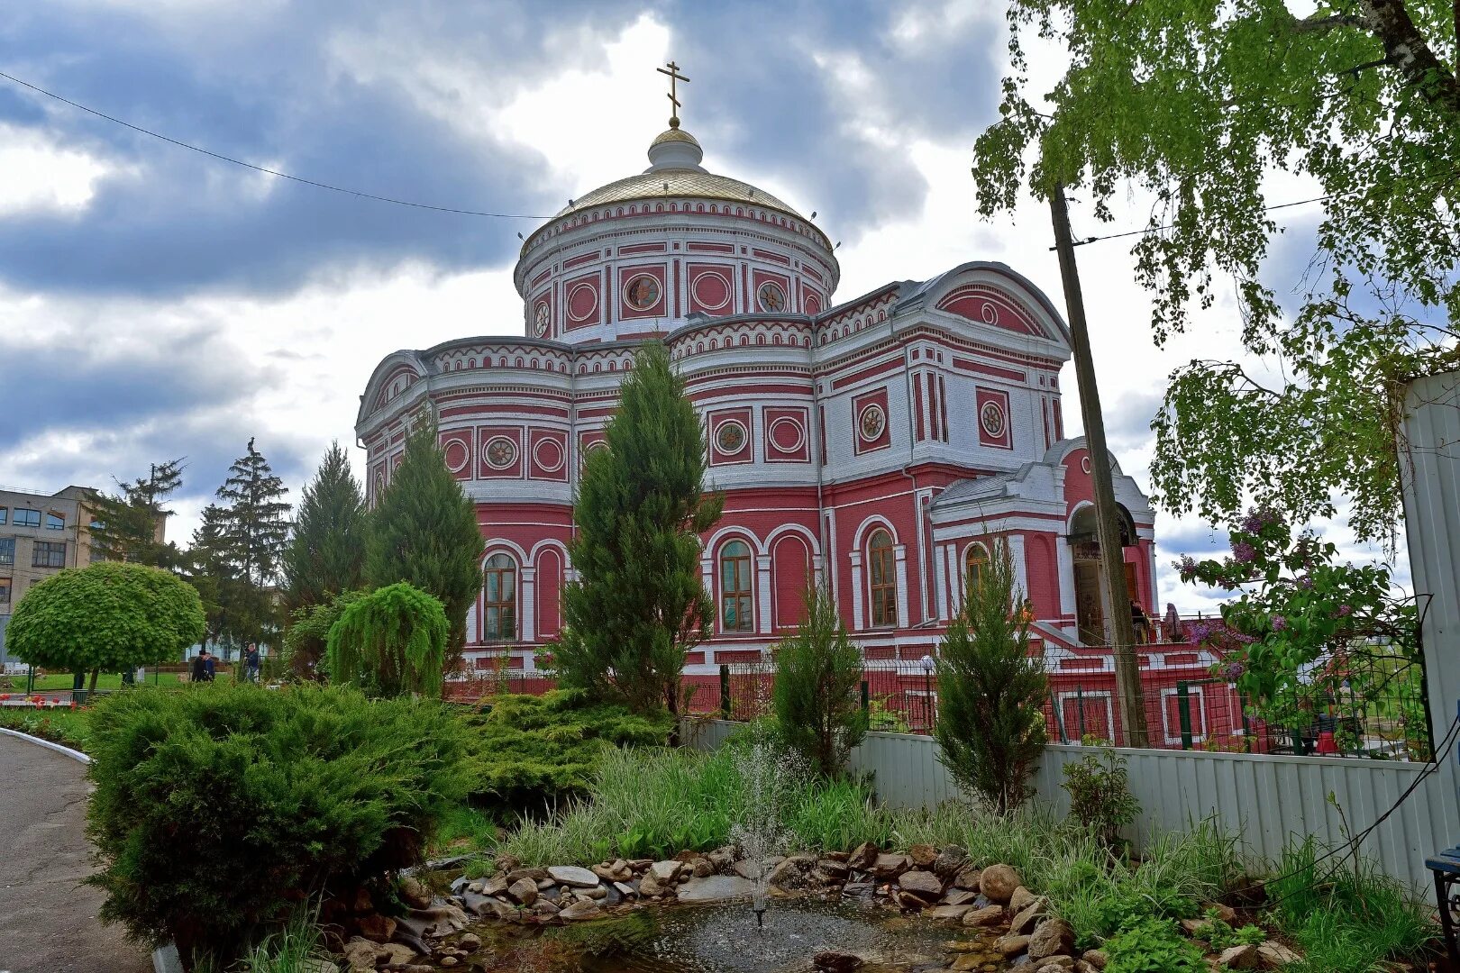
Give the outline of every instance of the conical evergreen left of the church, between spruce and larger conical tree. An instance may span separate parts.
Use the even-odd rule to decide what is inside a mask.
[[[283,556],[285,602],[320,605],[365,579],[365,496],[339,442],[320,461]]]

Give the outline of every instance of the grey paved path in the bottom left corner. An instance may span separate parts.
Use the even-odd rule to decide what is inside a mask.
[[[0,734],[0,973],[152,973],[80,884],[88,788],[76,760]]]

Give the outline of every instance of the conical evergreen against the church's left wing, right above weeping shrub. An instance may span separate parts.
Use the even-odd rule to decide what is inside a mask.
[[[476,505],[461,492],[423,422],[406,439],[406,455],[369,515],[365,579],[374,588],[407,581],[435,595],[447,610],[451,637],[445,671],[466,643],[466,613],[482,591],[482,531]]]

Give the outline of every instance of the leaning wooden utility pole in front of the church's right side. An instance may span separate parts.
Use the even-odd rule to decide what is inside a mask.
[[[1095,530],[1099,541],[1101,575],[1105,578],[1110,604],[1111,654],[1115,656],[1115,700],[1127,747],[1146,745],[1146,708],[1140,689],[1140,667],[1136,664],[1136,629],[1130,620],[1130,594],[1126,591],[1126,554],[1120,544],[1115,519],[1115,489],[1110,480],[1110,451],[1105,448],[1105,417],[1099,408],[1099,388],[1095,385],[1095,360],[1091,357],[1091,336],[1085,324],[1085,298],[1080,293],[1080,273],[1075,265],[1075,241],[1070,236],[1070,212],[1064,204],[1064,185],[1056,184],[1050,194],[1054,217],[1054,249],[1060,255],[1060,279],[1064,283],[1064,306],[1070,319],[1075,347],[1075,378],[1080,392],[1080,416],[1085,419],[1085,445],[1089,448],[1091,481],[1095,487]]]

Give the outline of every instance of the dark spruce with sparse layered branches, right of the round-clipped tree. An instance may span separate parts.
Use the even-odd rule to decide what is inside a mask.
[[[283,480],[274,476],[269,461],[254,449],[228,468],[228,478],[218,487],[218,499],[226,506],[220,513],[220,535],[216,553],[232,569],[237,585],[225,586],[229,624],[223,635],[231,642],[270,642],[279,629],[279,610],[270,588],[279,579],[285,544],[289,540],[289,505]],[[225,648],[225,658],[228,651]]]

